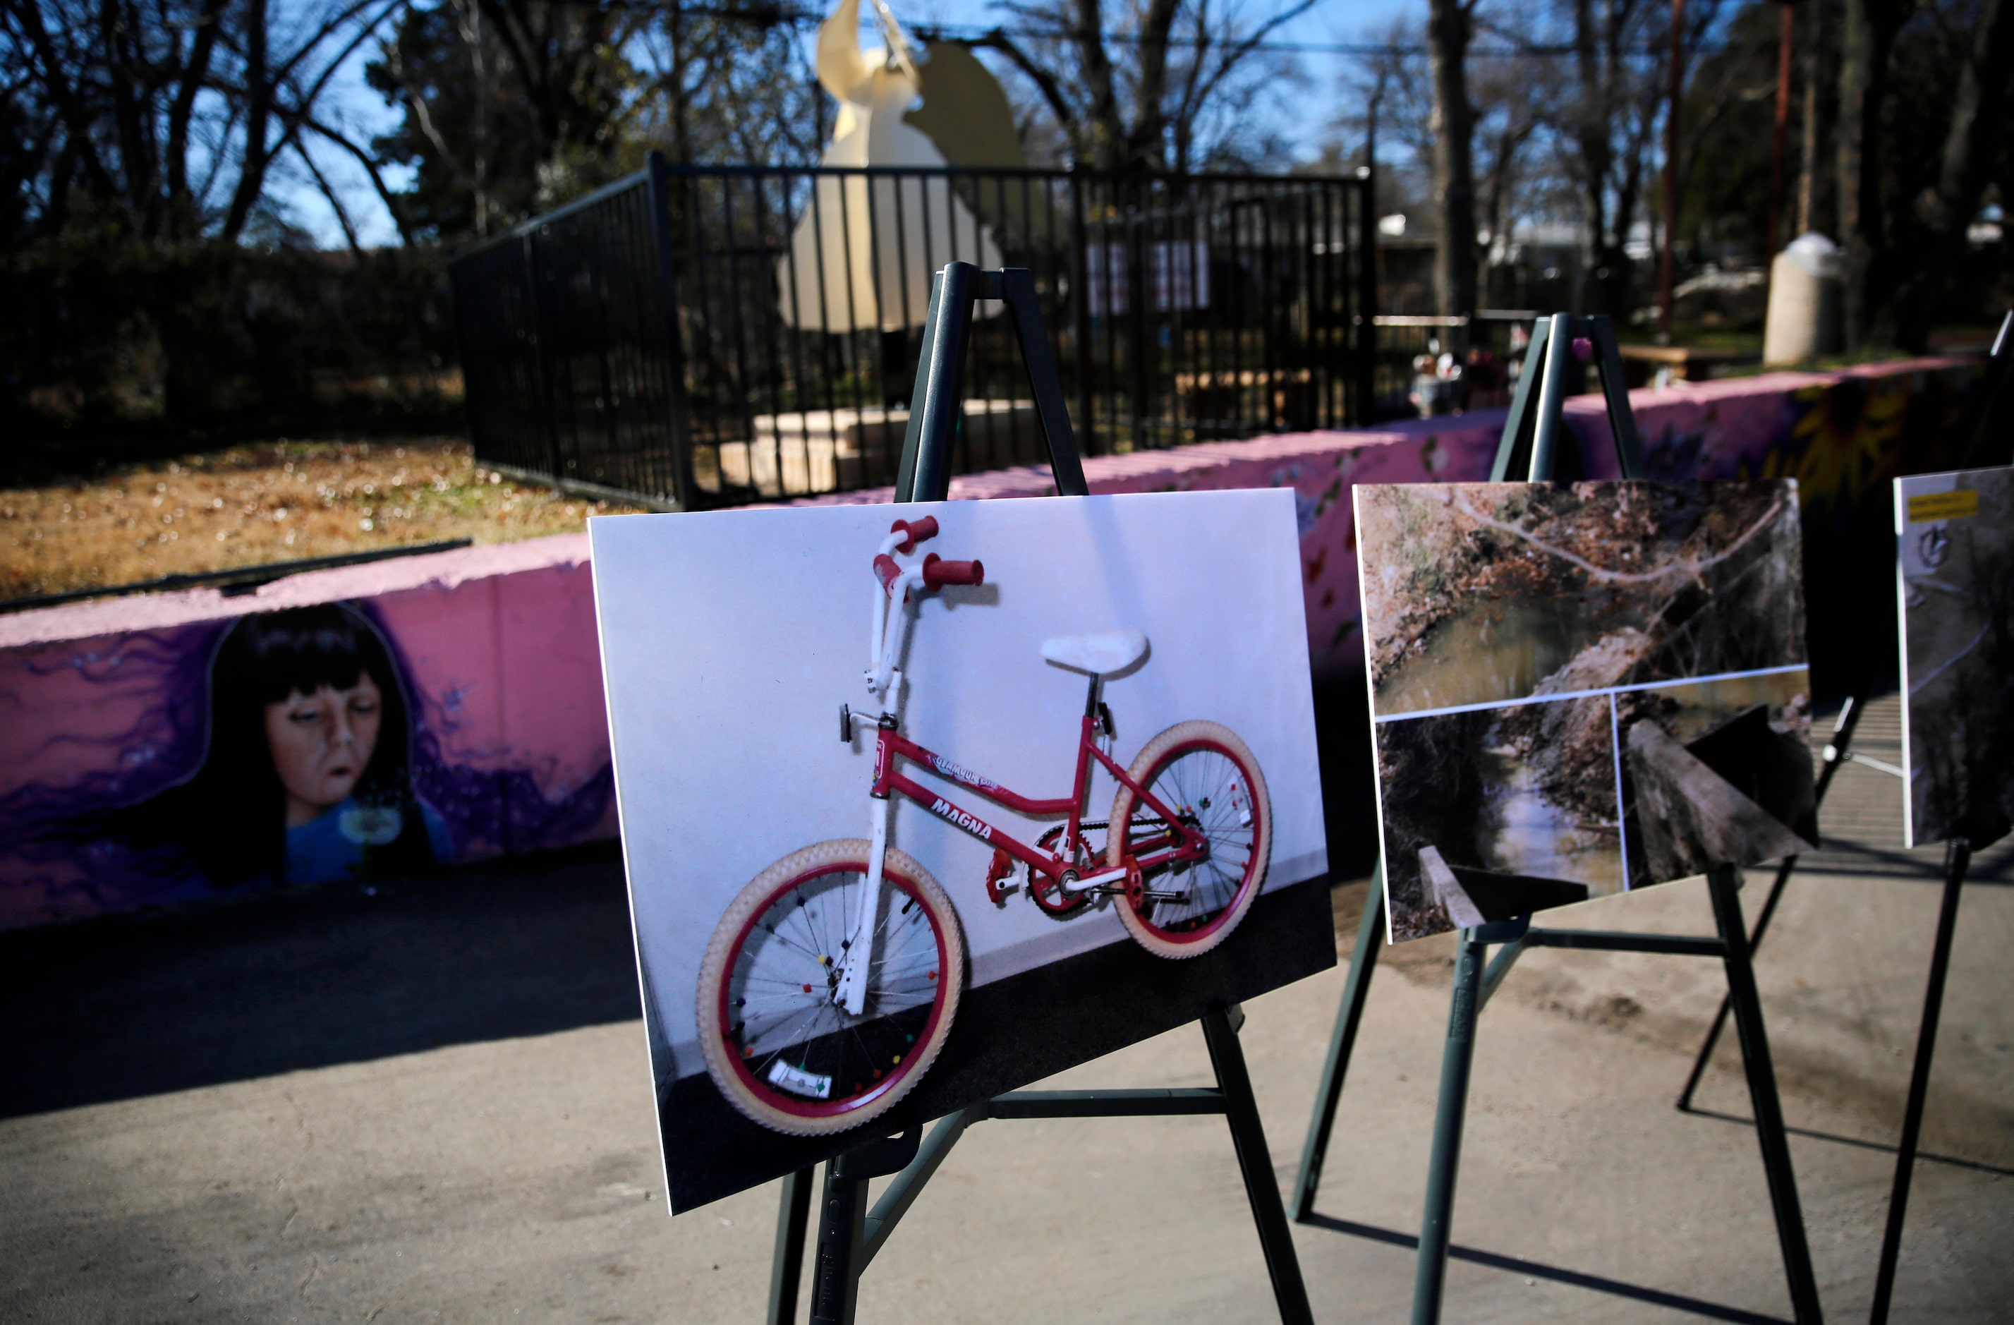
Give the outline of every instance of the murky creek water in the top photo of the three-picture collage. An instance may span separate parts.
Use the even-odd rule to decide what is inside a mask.
[[[1579,594],[1478,604],[1436,624],[1426,648],[1378,687],[1380,713],[1418,713],[1531,695],[1601,638]]]

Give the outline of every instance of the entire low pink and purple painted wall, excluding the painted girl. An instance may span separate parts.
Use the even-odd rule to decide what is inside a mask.
[[[1887,479],[1939,465],[1972,379],[1966,362],[1911,360],[1637,391],[1631,405],[1658,477],[1801,479],[1807,556],[1829,568],[1807,590],[1817,658],[1825,622],[1865,608],[1865,576],[1889,556]],[[1106,455],[1086,475],[1098,493],[1293,487],[1315,673],[1345,679],[1361,660],[1349,487],[1486,477],[1502,415]],[[1587,475],[1613,475],[1599,397],[1569,401],[1567,421]],[[1045,467],[951,485],[955,499],[1049,491]],[[1839,566],[1853,574],[1831,574]],[[242,598],[193,590],[22,612],[0,616],[0,928],[213,894],[52,828],[189,777],[224,628],[326,602],[358,604],[405,667],[413,785],[445,826],[449,860],[614,834],[586,536],[302,574]]]

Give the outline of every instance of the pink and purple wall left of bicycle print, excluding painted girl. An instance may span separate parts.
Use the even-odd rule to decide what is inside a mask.
[[[405,671],[413,785],[449,862],[614,836],[582,534],[312,572],[238,598],[73,604],[0,616],[0,928],[215,894],[187,870],[89,850],[75,830],[201,763],[203,677],[230,622],[328,602],[361,606]]]

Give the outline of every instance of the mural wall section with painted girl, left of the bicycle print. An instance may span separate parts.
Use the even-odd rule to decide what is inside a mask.
[[[0,928],[612,834],[586,536],[0,618]]]

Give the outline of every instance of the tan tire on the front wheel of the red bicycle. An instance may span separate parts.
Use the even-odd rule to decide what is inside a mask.
[[[727,979],[727,959],[735,946],[735,938],[761,904],[775,892],[777,884],[783,884],[785,880],[792,880],[808,870],[836,864],[856,864],[860,866],[860,872],[866,874],[868,850],[870,844],[862,838],[836,838],[832,842],[808,846],[802,852],[792,852],[783,860],[775,862],[757,874],[755,880],[735,896],[727,914],[721,916],[721,922],[713,928],[713,940],[707,944],[707,954],[699,963],[695,1019],[699,1021],[699,1051],[707,1059],[707,1075],[713,1077],[713,1085],[719,1087],[727,1103],[735,1106],[737,1112],[765,1128],[771,1128],[773,1132],[787,1132],[792,1136],[832,1136],[886,1114],[898,1099],[902,1099],[902,1095],[916,1087],[916,1081],[920,1081],[924,1073],[930,1071],[939,1051],[945,1047],[945,1037],[951,1035],[951,1021],[959,1011],[959,995],[965,991],[965,934],[959,930],[959,912],[953,910],[951,898],[937,886],[930,872],[892,846],[882,862],[882,870],[898,874],[916,886],[916,894],[922,898],[922,906],[930,912],[930,922],[945,942],[945,1007],[939,1013],[937,1027],[930,1031],[928,1039],[910,1055],[914,1067],[910,1067],[892,1089],[884,1091],[870,1103],[862,1103],[858,1110],[834,1114],[832,1118],[802,1118],[798,1114],[785,1114],[761,1095],[753,1093],[741,1081],[741,1073],[735,1071],[727,1039],[721,1033],[719,1019],[709,1015],[715,1007],[715,999],[719,997],[721,981]]]

